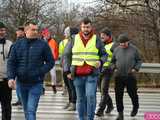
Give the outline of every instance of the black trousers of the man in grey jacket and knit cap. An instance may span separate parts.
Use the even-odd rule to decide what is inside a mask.
[[[134,75],[116,76],[115,77],[115,95],[116,106],[118,112],[123,112],[123,94],[124,88],[127,88],[127,93],[131,98],[133,109],[139,108],[138,95],[137,95],[137,81]]]

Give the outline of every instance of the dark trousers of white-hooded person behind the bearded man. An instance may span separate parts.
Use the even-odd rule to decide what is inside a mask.
[[[73,84],[73,80],[69,80],[66,74],[63,74],[64,84],[67,87],[69,102],[76,103],[76,90]]]

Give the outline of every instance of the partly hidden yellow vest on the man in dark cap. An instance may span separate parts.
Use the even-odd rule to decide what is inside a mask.
[[[112,45],[113,45],[113,42],[105,45],[105,49],[106,49],[106,52],[107,52],[107,54],[108,54],[108,58],[107,58],[107,62],[105,62],[105,63],[103,64],[104,67],[108,67],[108,66],[110,65],[110,63],[111,63],[111,60],[112,60],[111,47],[112,47]]]

